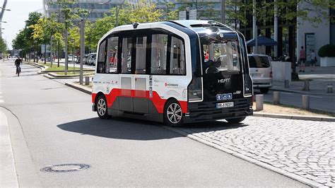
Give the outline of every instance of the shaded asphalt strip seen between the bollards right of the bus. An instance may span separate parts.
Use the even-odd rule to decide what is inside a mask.
[[[254,90],[254,95],[261,94],[259,90]],[[274,92],[269,90],[269,93],[263,94],[264,101],[274,102]],[[293,105],[295,107],[302,107],[302,95],[301,93],[289,93],[281,91],[281,104]],[[309,95],[310,96],[310,108],[315,110],[323,110],[327,112],[335,113],[335,97],[329,95]]]

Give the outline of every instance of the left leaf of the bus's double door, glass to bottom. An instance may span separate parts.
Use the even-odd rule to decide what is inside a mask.
[[[119,110],[134,112],[132,90],[134,75],[131,74],[132,38],[122,38],[121,73],[119,74]]]

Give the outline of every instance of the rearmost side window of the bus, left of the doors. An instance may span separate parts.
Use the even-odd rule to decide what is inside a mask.
[[[117,73],[117,44],[119,37],[110,37],[107,44],[106,72]]]

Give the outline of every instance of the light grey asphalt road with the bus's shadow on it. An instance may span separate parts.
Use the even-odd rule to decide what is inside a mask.
[[[1,61],[0,71],[0,110],[8,117],[22,187],[305,187],[162,124],[98,119],[90,95],[37,75],[33,66],[23,65],[18,77],[13,61]],[[67,163],[90,168],[40,171]]]

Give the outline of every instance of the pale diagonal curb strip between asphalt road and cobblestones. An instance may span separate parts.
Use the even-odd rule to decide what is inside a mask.
[[[163,127],[165,127],[165,126],[163,126]],[[218,149],[220,151],[223,151],[225,153],[233,155],[233,156],[235,156],[237,158],[240,158],[242,160],[246,160],[249,163],[252,163],[254,165],[258,165],[261,168],[265,168],[267,170],[271,170],[271,171],[276,172],[276,173],[278,173],[280,175],[289,177],[290,179],[296,180],[296,181],[301,182],[303,184],[307,184],[307,185],[309,185],[311,187],[324,187],[323,184],[319,184],[318,182],[314,182],[314,181],[309,180],[309,179],[307,179],[305,177],[301,177],[299,175],[295,175],[292,172],[286,172],[285,170],[281,170],[280,168],[276,168],[276,167],[274,167],[274,166],[272,166],[270,164],[263,163],[263,162],[261,162],[259,160],[255,160],[254,158],[250,158],[250,157],[248,157],[246,155],[242,155],[241,153],[237,153],[237,152],[232,151],[232,150],[230,150],[228,148],[223,148],[222,146],[219,146],[219,145],[217,145],[215,143],[212,143],[210,141],[206,141],[205,139],[201,139],[199,136],[195,136],[195,135],[192,135],[192,134],[187,134],[187,132],[184,132],[184,131],[181,131],[179,129],[175,129],[175,128],[172,128],[172,127],[165,127],[165,129],[169,129],[170,131],[174,131],[177,134],[182,134],[183,136],[187,136],[187,138],[189,138],[189,139],[192,139],[194,141],[198,141],[199,143],[204,143],[206,146],[211,146],[211,147],[216,148],[216,149]]]

